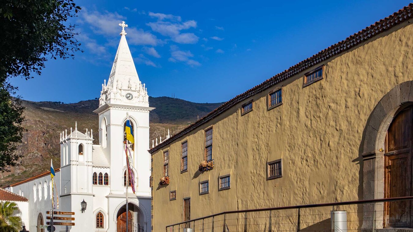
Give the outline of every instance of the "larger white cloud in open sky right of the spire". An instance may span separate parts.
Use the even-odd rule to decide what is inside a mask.
[[[195,20],[188,20],[182,22],[180,16],[172,14],[161,14],[149,12],[152,18],[157,18],[156,22],[147,23],[152,31],[160,33],[162,36],[168,36],[172,41],[182,44],[195,44],[198,42],[199,37],[194,33],[181,33],[183,30],[190,28],[196,28],[197,22]]]

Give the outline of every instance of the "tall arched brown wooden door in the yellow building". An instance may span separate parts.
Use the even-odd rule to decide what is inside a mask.
[[[411,196],[412,107],[396,115],[387,130],[385,197]],[[411,201],[385,204],[385,227],[411,228]]]

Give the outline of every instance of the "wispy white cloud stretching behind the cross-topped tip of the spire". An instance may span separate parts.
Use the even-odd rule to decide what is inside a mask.
[[[127,7],[126,7],[127,8]],[[119,23],[126,17],[114,12],[88,11],[83,8],[81,11],[81,23],[89,24],[94,33],[113,37],[121,31]],[[134,45],[152,45],[156,46],[162,43],[152,33],[142,30],[141,28],[128,27],[125,29],[128,33],[128,40]]]

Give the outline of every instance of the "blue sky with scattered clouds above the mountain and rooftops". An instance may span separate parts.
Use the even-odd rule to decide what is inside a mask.
[[[99,97],[126,21],[129,47],[152,97],[224,102],[408,5],[366,1],[76,1],[84,53],[14,78],[32,101]]]

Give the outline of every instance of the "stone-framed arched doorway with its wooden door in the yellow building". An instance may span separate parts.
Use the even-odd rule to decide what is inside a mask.
[[[411,176],[406,180],[406,175],[408,174],[402,175],[402,172],[404,172],[402,169],[405,168],[402,163],[410,163],[411,158],[407,158],[410,156],[405,153],[404,156],[397,157],[406,157],[405,160],[402,160],[396,159],[396,156],[392,156],[392,154],[406,152],[405,150],[399,150],[408,148],[406,147],[406,143],[408,143],[407,141],[411,141],[411,139],[403,137],[405,135],[411,136],[411,132],[409,135],[408,131],[410,131],[410,127],[412,126],[406,125],[406,121],[409,121],[408,118],[411,117],[408,114],[411,114],[409,111],[411,111],[410,107],[413,104],[412,85],[413,81],[410,80],[394,86],[394,88],[387,92],[375,105],[366,122],[360,147],[363,159],[363,175],[361,175],[361,177],[363,178],[364,200],[381,199],[403,194],[408,194],[404,196],[410,196],[411,194],[411,187],[410,190],[407,190],[407,193],[402,193],[401,191],[397,192],[396,188],[391,189],[390,185],[393,183],[396,186],[406,186],[409,182],[411,183]],[[404,144],[401,147],[405,146],[405,148],[397,147],[397,144],[389,144],[390,147],[388,147],[389,136],[394,138],[395,141],[393,142]],[[392,166],[388,165],[389,162],[392,164],[392,161],[394,162],[393,173],[391,169]],[[396,168],[396,166],[399,166],[399,168]],[[404,178],[400,178],[400,176],[404,176]],[[406,190],[406,187],[403,187],[403,189]],[[396,192],[392,192],[393,190]],[[392,214],[392,210],[394,212],[396,209],[404,211],[403,208],[406,206],[404,203],[399,206],[397,206],[397,204],[393,204],[392,206],[391,204],[384,203],[364,204],[362,229],[372,229],[373,222],[375,222],[374,227],[376,229],[385,227],[412,227],[413,223],[410,222],[410,215],[403,213],[399,215]]]

